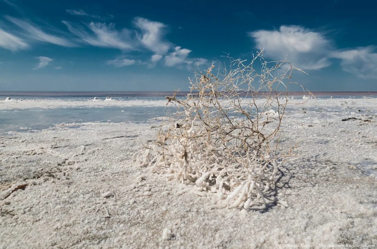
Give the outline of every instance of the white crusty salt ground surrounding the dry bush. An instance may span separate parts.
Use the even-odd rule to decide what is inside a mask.
[[[61,104],[34,103],[22,101]],[[0,248],[377,244],[377,179],[370,174],[377,99],[291,108],[280,141],[282,148],[298,142],[301,158],[284,164],[279,201],[266,212],[219,208],[216,193],[135,167],[131,155],[155,136],[158,122],[62,124],[2,136],[0,193],[28,185],[0,200]],[[341,121],[349,117],[360,119]]]

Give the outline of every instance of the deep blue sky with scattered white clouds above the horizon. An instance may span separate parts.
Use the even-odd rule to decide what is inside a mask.
[[[0,0],[0,91],[187,90],[224,52],[309,75],[313,91],[377,91],[377,1]],[[297,89],[291,89],[297,90]]]

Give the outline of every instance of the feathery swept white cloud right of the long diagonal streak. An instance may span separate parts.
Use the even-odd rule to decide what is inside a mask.
[[[113,23],[106,25],[106,23],[91,22],[87,25],[87,28],[91,31],[91,33],[89,33],[87,29],[82,26],[75,28],[66,21],[62,22],[67,25],[70,32],[92,46],[117,48],[121,50],[135,49],[130,31],[128,29],[117,31]]]

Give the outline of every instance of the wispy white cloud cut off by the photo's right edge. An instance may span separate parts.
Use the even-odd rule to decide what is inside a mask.
[[[343,71],[364,79],[377,78],[377,53],[374,46],[360,47],[331,54],[333,58],[340,59]]]

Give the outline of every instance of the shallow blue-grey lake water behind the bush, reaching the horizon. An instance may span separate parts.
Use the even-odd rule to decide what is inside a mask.
[[[188,92],[181,92],[185,95]],[[317,98],[375,98],[377,92],[313,92]],[[1,92],[0,99],[11,97],[16,100],[64,100],[64,101],[87,101],[94,97],[104,100],[106,96],[112,96],[115,100],[164,100],[166,95],[172,92]],[[290,97],[302,99],[303,92],[290,92]],[[153,102],[153,101],[152,101]],[[314,111],[339,112],[336,109],[323,110],[310,107]],[[86,123],[86,122],[134,122],[145,123],[152,118],[166,116],[164,107],[65,107],[55,109],[12,109],[0,110],[0,133],[10,131],[31,131],[45,129],[60,123]],[[287,106],[286,111],[291,111]]]

